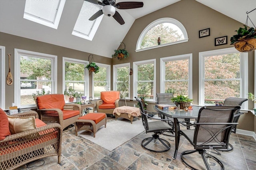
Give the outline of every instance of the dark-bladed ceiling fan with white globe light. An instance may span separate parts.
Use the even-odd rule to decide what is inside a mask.
[[[120,10],[133,9],[133,8],[141,8],[143,7],[143,2],[119,2],[116,4],[116,0],[102,0],[102,2],[98,0],[84,0],[87,2],[91,2],[93,4],[102,5],[102,10],[99,10],[95,14],[89,18],[90,21],[95,20],[102,14],[106,16],[113,16],[113,18],[121,25],[124,24],[124,20],[122,16],[116,11],[116,8]]]

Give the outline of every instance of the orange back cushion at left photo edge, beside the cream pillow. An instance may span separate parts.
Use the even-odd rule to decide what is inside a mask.
[[[9,121],[6,113],[0,108],[0,140],[4,140],[6,136],[11,134],[9,129]]]

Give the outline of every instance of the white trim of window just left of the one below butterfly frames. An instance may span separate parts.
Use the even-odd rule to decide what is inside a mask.
[[[192,53],[160,58],[160,93],[165,93],[165,62],[188,59],[188,96],[192,98]]]

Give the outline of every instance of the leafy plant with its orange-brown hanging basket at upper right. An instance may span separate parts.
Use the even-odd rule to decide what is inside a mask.
[[[230,45],[240,52],[250,52],[256,49],[256,30],[250,28],[247,30],[247,26],[236,30],[237,34],[230,38]]]

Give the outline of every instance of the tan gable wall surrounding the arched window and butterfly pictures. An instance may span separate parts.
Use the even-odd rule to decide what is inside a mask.
[[[148,24],[150,24],[151,22],[159,18],[165,17],[174,18],[184,25],[188,33],[188,42],[169,45],[166,47],[160,47],[156,49],[150,49],[147,51],[140,51],[136,53],[136,43],[144,28],[148,26]],[[134,24],[132,25],[132,27],[130,28],[129,32],[126,34],[126,37],[123,40],[123,42],[126,44],[126,49],[128,50],[130,56],[125,60],[118,60],[114,58],[113,65],[130,62],[130,66],[132,67],[132,63],[134,61],[156,59],[156,93],[160,93],[160,83],[158,83],[160,82],[160,58],[192,53],[192,98],[194,99],[194,104],[198,104],[198,53],[201,51],[233,47],[233,45],[229,45],[229,41],[228,44],[226,45],[214,46],[214,38],[228,36],[229,40],[230,37],[235,34],[234,30],[237,30],[239,27],[242,26],[242,23],[237,22],[236,20],[233,20],[228,16],[225,16],[215,10],[212,10],[207,6],[200,4],[199,2],[196,2],[194,0],[181,0],[175,4],[172,4],[161,10],[158,10],[156,12],[153,12],[151,14],[148,14],[142,18],[135,20]],[[198,38],[198,31],[203,30],[205,28],[210,28],[210,36]],[[130,80],[130,94],[132,94],[132,76],[130,77]],[[250,52],[248,56],[248,84],[248,91],[254,92],[254,52]],[[130,105],[133,106],[132,104]],[[148,106],[148,109],[150,111],[154,111],[154,109],[152,110],[152,106],[153,104],[150,104]],[[252,101],[249,101],[249,108],[253,108]],[[254,121],[253,117],[255,116],[253,116],[252,113],[250,112],[242,115],[239,119],[240,125],[238,125],[238,128],[256,132],[256,122]]]

